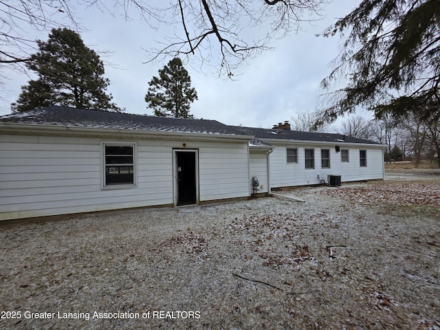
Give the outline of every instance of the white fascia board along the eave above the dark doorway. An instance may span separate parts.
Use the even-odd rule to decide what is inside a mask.
[[[103,129],[81,126],[53,126],[36,124],[16,124],[0,122],[0,134],[11,135],[67,135],[80,137],[119,137],[137,139],[175,140],[184,138],[187,141],[206,140],[222,142],[250,142],[253,135],[231,135],[217,133],[190,133],[190,132],[168,132],[168,131],[140,131],[130,129]]]

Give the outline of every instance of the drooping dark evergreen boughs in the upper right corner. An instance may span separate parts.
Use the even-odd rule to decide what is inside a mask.
[[[349,83],[331,94],[323,119],[351,113],[359,105],[396,118],[416,110],[440,118],[440,0],[362,0],[325,33],[340,32],[344,48],[336,69],[323,80]],[[344,32],[348,34],[344,35]]]

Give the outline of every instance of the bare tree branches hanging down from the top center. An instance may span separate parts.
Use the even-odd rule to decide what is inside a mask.
[[[168,38],[158,56],[198,56],[209,49],[218,55],[220,72],[232,76],[243,61],[270,49],[269,41],[298,30],[305,14],[319,15],[325,0],[178,0],[172,21],[184,34]],[[194,4],[195,3],[195,4]],[[317,16],[316,16],[317,17]],[[188,28],[190,25],[190,28]],[[259,33],[255,33],[259,31]]]

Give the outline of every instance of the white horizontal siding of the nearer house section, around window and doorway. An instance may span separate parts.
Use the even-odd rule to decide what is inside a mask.
[[[137,140],[137,185],[127,189],[102,189],[107,141],[116,142],[0,135],[0,220],[173,205],[173,148],[181,140]],[[250,195],[248,142],[186,145],[199,148],[201,201]]]

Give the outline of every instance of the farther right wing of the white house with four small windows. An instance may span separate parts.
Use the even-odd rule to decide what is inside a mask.
[[[327,181],[384,179],[384,145],[332,133],[291,131],[288,122],[272,129],[238,127],[243,135],[274,146],[270,187],[305,186]]]

